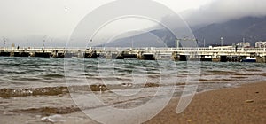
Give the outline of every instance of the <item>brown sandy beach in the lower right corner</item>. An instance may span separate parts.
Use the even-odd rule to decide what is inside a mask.
[[[239,88],[197,94],[184,112],[176,113],[178,98],[146,124],[266,123],[266,81]]]

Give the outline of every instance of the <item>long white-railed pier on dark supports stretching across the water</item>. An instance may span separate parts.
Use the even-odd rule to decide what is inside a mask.
[[[0,57],[200,60],[266,63],[265,48],[1,48]]]

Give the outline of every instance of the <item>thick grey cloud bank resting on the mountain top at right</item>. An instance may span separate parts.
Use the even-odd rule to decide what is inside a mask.
[[[182,12],[190,26],[225,22],[243,17],[266,16],[266,0],[214,0],[199,9]]]

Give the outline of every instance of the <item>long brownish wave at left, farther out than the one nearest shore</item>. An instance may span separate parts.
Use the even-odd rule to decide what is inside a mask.
[[[90,86],[69,86],[69,87],[46,87],[31,89],[0,89],[0,97],[38,97],[38,96],[58,96],[69,93],[71,91],[110,91],[110,89],[138,89],[160,87],[157,83],[145,83],[144,85],[136,84],[133,87],[131,83],[122,83],[116,85],[93,84]]]

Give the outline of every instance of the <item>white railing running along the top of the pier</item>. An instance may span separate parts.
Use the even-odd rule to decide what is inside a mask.
[[[130,48],[130,47],[90,47],[90,48],[1,48],[2,52],[12,52],[12,51],[47,51],[51,52],[54,50],[58,51],[85,51],[85,50],[97,50],[97,51],[129,51],[129,50],[141,50],[141,51],[158,51],[158,52],[266,52],[266,48]]]

